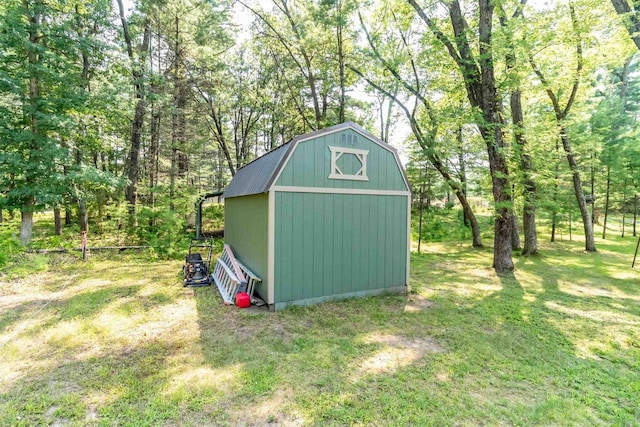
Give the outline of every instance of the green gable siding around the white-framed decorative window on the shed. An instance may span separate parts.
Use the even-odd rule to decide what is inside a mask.
[[[343,141],[343,134],[349,135],[355,142]],[[369,181],[329,179],[330,146],[368,150]],[[338,160],[338,167],[343,173],[354,173],[360,169],[360,162],[353,155],[343,155]],[[351,129],[300,142],[284,166],[276,185],[408,191],[393,153]]]

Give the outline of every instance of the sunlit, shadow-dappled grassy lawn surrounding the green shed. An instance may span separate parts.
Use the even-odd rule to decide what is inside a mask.
[[[0,425],[640,425],[632,238],[426,245],[412,292],[278,313],[148,254],[0,273]],[[425,246],[423,246],[424,248]]]

